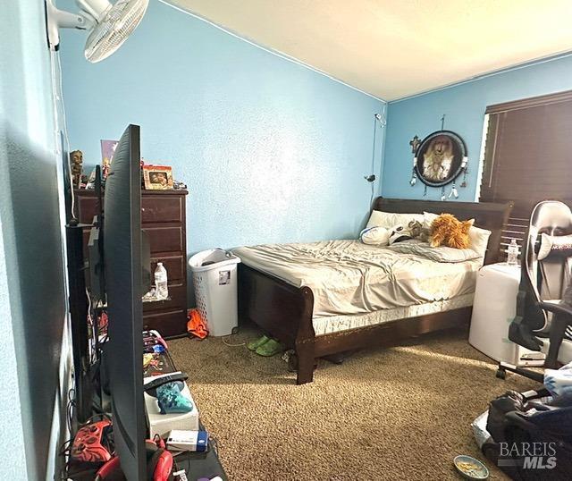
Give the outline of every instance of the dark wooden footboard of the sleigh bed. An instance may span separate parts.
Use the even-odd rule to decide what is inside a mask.
[[[297,384],[311,383],[315,367],[314,294],[239,265],[239,316],[260,326],[298,356]]]

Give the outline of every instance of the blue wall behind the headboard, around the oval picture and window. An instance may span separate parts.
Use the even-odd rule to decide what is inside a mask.
[[[572,56],[391,102],[383,157],[383,196],[423,198],[420,181],[415,187],[409,185],[413,163],[409,140],[439,130],[445,114],[445,128],[465,139],[469,156],[467,188],[458,189],[458,200],[475,200],[486,106],[568,89],[572,89]],[[450,187],[447,195],[449,192]],[[430,188],[427,198],[441,198],[441,189]]]

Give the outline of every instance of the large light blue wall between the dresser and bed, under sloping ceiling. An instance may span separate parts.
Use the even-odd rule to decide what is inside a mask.
[[[142,156],[189,186],[189,252],[357,236],[381,101],[159,2],[104,62],[84,42],[64,33],[71,148],[94,165],[99,139],[141,125]]]

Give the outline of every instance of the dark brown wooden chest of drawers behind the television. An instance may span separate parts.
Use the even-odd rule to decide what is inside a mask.
[[[163,262],[169,279],[170,300],[143,303],[144,329],[156,329],[164,337],[187,333],[187,238],[185,200],[187,190],[143,190],[141,227],[151,248],[151,276]],[[75,190],[76,215],[91,224],[96,213],[94,190]],[[84,231],[87,246],[89,228]],[[153,283],[153,279],[151,280]]]

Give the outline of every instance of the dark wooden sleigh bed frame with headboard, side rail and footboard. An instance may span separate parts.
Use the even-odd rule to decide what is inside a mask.
[[[379,197],[374,200],[373,209],[404,214],[446,211],[462,220],[474,218],[476,226],[492,231],[484,257],[486,265],[499,260],[501,231],[512,206],[512,203],[443,203]],[[463,325],[470,320],[472,311],[471,307],[457,308],[316,336],[313,309],[314,294],[309,287],[298,288],[273,275],[239,265],[239,316],[250,319],[288,349],[295,350],[296,384],[312,382],[318,358],[370,346],[391,346],[412,336]]]

